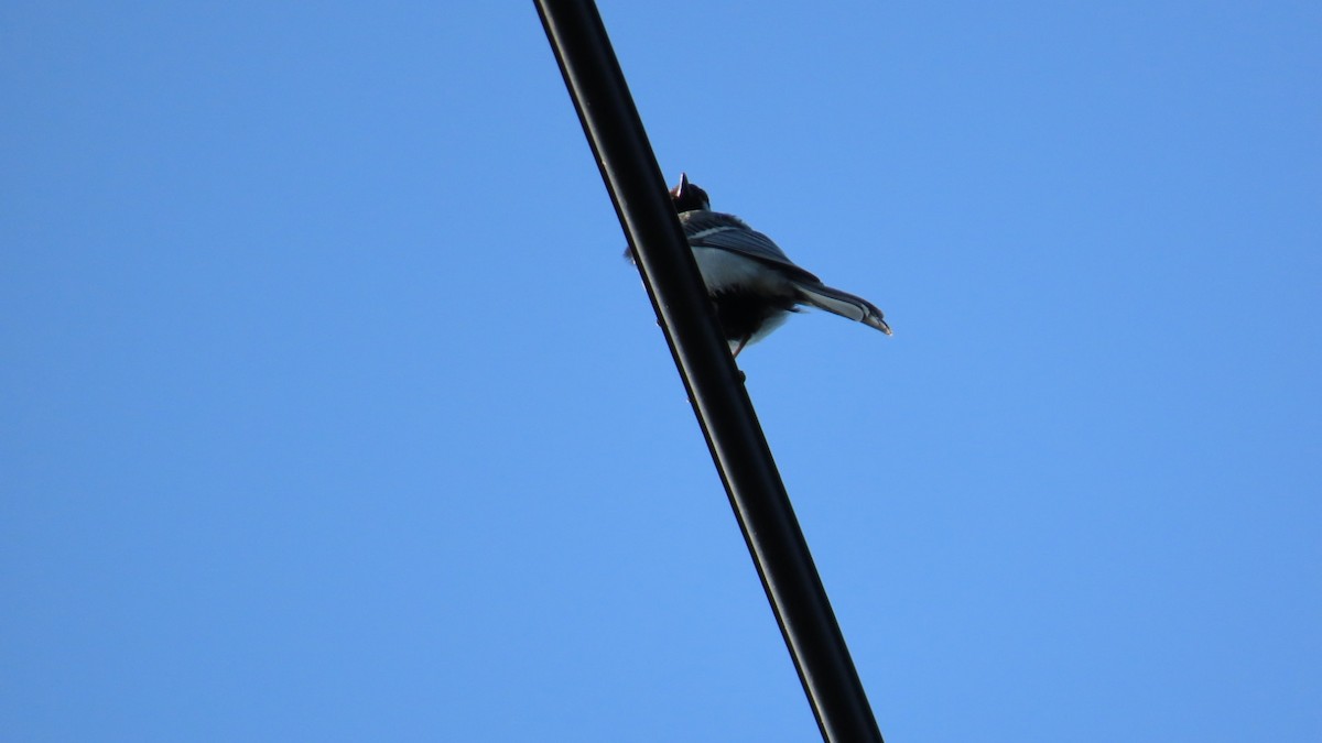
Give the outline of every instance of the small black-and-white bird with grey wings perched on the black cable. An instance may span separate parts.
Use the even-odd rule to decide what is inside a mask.
[[[715,307],[717,321],[735,357],[798,312],[825,309],[886,333],[882,311],[863,297],[829,287],[785,255],[771,238],[734,214],[711,210],[707,192],[680,175],[670,190],[683,235]],[[629,250],[625,258],[633,260]]]

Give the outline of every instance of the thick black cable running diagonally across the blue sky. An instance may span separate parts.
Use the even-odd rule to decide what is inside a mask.
[[[822,738],[880,742],[596,5],[535,4]]]

